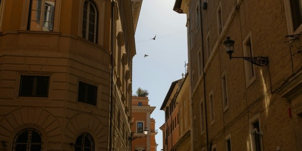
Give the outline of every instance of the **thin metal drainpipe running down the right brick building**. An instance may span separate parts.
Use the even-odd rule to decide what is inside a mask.
[[[201,26],[201,41],[202,41],[202,68],[204,69],[204,47],[203,47],[203,26],[202,26],[202,7],[201,7],[201,0],[199,0],[199,7],[200,7],[200,26]],[[208,126],[207,126],[207,112],[206,112],[206,91],[205,91],[205,72],[203,70],[203,97],[204,97],[204,111],[205,111],[205,131],[206,131],[206,147],[207,150],[209,149],[209,136],[208,136]],[[209,150],[210,151],[210,150]]]

